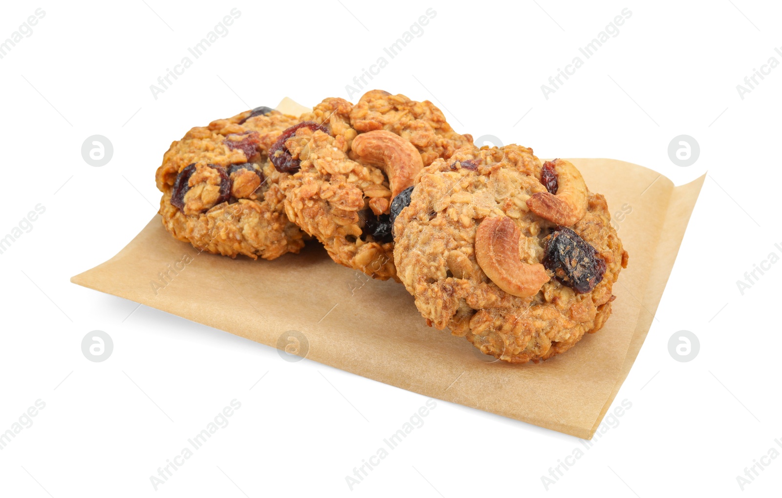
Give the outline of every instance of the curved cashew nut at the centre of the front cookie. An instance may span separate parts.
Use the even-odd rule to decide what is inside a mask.
[[[485,218],[475,232],[475,260],[497,287],[518,297],[535,296],[549,281],[540,263],[518,259],[522,231],[509,217]]]

